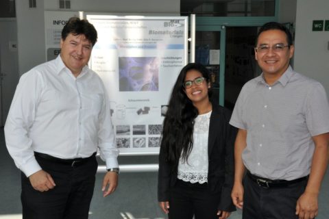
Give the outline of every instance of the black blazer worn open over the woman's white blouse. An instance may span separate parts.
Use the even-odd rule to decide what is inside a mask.
[[[208,137],[208,188],[221,192],[218,209],[234,211],[231,191],[234,181],[234,141],[236,128],[229,125],[231,112],[212,104]],[[169,190],[177,180],[178,166],[172,166],[160,148],[158,172],[158,201],[169,201]]]

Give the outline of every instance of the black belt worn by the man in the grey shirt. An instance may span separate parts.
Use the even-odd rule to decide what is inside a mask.
[[[291,185],[293,183],[298,183],[300,181],[304,181],[308,179],[308,176],[298,178],[298,179],[293,179],[293,180],[284,180],[284,179],[266,179],[263,177],[258,177],[255,175],[252,175],[249,170],[247,171],[247,176],[249,179],[252,179],[252,181],[256,182],[260,187],[263,188],[282,188],[282,187],[287,187],[287,185]]]

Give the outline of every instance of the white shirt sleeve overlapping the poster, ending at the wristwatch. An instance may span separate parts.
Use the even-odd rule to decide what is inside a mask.
[[[106,162],[106,168],[117,168],[119,167],[117,157],[119,155],[119,150],[117,149],[117,144],[115,142],[115,135],[111,120],[110,113],[110,101],[106,93],[106,89],[101,82],[103,87],[103,103],[101,107],[101,113],[99,115],[99,149],[100,157]]]

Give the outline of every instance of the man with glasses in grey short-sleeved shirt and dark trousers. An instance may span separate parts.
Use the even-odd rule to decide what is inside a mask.
[[[293,51],[286,27],[260,28],[255,57],[263,73],[245,83],[230,120],[239,128],[232,199],[246,219],[317,216],[329,104],[321,83],[291,68]]]

